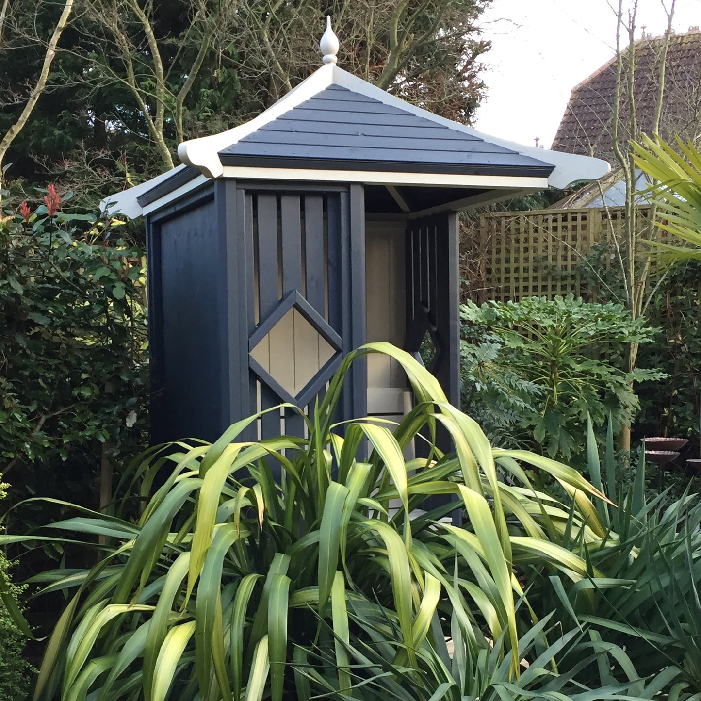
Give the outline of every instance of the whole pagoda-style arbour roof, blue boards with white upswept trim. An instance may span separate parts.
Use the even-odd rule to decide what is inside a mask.
[[[522,146],[432,114],[339,68],[335,51],[322,53],[322,67],[262,114],[183,142],[184,165],[109,198],[110,210],[135,217],[218,177],[360,182],[390,191],[403,212],[416,211],[411,200],[455,210],[609,170],[597,158]],[[442,195],[427,200],[419,192],[427,187]]]

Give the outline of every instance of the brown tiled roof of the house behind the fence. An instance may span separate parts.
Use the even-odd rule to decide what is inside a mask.
[[[646,36],[635,43],[634,95],[641,132],[650,132],[655,113],[663,37]],[[627,61],[627,52],[622,55]],[[623,80],[625,81],[623,67]],[[616,60],[611,59],[573,88],[552,149],[611,159],[611,123],[615,96]],[[672,37],[666,62],[665,98],[660,134],[669,139],[679,133],[693,138],[701,129],[701,32],[693,27]],[[629,139],[627,97],[620,109],[620,138]]]

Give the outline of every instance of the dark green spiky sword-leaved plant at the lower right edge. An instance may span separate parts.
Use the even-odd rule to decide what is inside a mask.
[[[591,470],[598,475],[590,430]],[[608,491],[615,490],[613,435],[606,442]],[[594,479],[594,484],[597,479]],[[641,449],[633,484],[618,491],[620,508],[599,504],[604,523],[617,535],[591,553],[609,578],[599,588],[596,618],[588,618],[609,641],[625,645],[641,674],[679,665],[676,694],[701,698],[701,501],[690,490],[669,502],[667,492],[646,491]],[[673,694],[674,696],[674,694]]]

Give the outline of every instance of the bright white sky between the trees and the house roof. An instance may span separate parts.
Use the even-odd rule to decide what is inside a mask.
[[[494,0],[481,22],[492,48],[475,128],[529,146],[539,137],[549,147],[570,90],[615,53],[617,9],[617,0]],[[636,36],[643,26],[664,34],[662,0],[639,0],[636,23]],[[701,0],[676,0],[674,31],[698,25]]]

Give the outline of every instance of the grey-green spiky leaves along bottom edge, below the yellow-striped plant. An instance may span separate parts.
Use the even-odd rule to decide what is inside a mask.
[[[372,625],[362,617],[353,618],[365,633],[345,645],[351,664],[348,667],[351,688],[339,690],[334,676],[324,676],[327,667],[314,666],[308,655],[300,658],[295,669],[301,688],[310,698],[312,686],[318,697],[347,701],[526,701],[552,699],[584,701],[601,699],[649,699],[661,691],[676,690],[679,669],[666,667],[648,679],[641,679],[632,661],[620,646],[601,639],[594,629],[575,627],[563,632],[562,621],[552,613],[532,625],[519,639],[522,658],[520,674],[512,674],[508,655],[504,654],[505,638],[490,641],[468,664],[468,641],[461,637],[461,625],[452,615],[451,629],[455,637],[442,643],[440,634],[435,646],[422,646],[414,667],[402,665],[406,658],[400,636],[386,623]],[[539,643],[547,638],[548,645]],[[323,655],[321,655],[323,657]],[[327,659],[326,662],[332,660]],[[402,683],[411,675],[411,683]],[[305,681],[306,680],[306,681]]]

